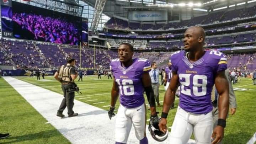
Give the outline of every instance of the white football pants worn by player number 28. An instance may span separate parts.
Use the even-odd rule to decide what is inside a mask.
[[[178,107],[171,128],[170,144],[187,144],[192,132],[196,144],[210,144],[212,121],[212,111],[207,114],[195,114]]]

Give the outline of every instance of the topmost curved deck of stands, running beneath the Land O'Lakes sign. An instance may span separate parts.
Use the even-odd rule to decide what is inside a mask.
[[[190,20],[182,20],[181,22],[171,23],[145,23],[128,22],[116,17],[111,17],[105,24],[107,28],[128,29],[128,30],[172,30],[177,28],[186,28],[195,25],[207,25],[212,23],[220,23],[225,21],[240,20],[246,17],[256,16],[256,6],[243,7],[231,11],[211,12],[208,15],[193,17]]]

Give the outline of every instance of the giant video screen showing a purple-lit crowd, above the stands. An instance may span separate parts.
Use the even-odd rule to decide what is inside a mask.
[[[3,37],[60,44],[80,44],[81,17],[14,1],[8,5],[3,5],[1,1],[1,14],[5,16],[1,17]]]

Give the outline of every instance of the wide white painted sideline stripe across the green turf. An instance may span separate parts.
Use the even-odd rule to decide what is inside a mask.
[[[9,76],[3,77],[22,97],[24,97],[47,121],[52,124],[62,135],[72,144],[113,144],[114,127],[116,118],[109,119],[107,111],[101,108],[88,105],[74,100],[73,110],[79,113],[76,117],[59,118],[56,116],[63,95],[44,89],[42,87],[29,84]],[[25,89],[27,87],[28,89]],[[67,115],[67,110],[63,112]],[[146,128],[149,144],[169,144],[169,138],[164,142],[156,142]],[[138,144],[132,128],[128,144]],[[194,144],[190,140],[188,144]]]

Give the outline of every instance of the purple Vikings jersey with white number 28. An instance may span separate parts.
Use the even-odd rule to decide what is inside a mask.
[[[191,63],[186,53],[177,51],[170,57],[171,69],[178,74],[181,86],[179,106],[192,113],[208,113],[213,107],[210,98],[214,76],[227,68],[227,58],[219,51],[209,50]]]

